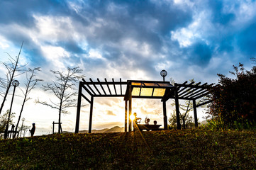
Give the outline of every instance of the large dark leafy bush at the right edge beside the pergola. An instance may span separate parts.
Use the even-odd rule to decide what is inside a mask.
[[[256,67],[250,71],[243,64],[233,67],[235,72],[230,73],[235,79],[218,74],[219,84],[211,91],[213,102],[209,107],[213,118],[228,128],[256,122]]]

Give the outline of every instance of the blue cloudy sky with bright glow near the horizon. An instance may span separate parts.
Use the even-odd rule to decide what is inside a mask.
[[[67,67],[79,67],[86,80],[94,81],[162,81],[160,71],[165,69],[167,81],[218,83],[217,74],[231,77],[229,71],[239,62],[245,69],[252,68],[250,58],[256,55],[255,9],[255,0],[1,0],[0,61],[9,60],[6,52],[12,57],[18,55],[23,42],[20,64],[41,68],[37,78],[44,81],[31,92],[22,117],[26,118],[25,125],[35,123],[35,135],[48,134],[52,122],[57,122],[57,110],[34,101],[54,100],[55,96],[41,89],[41,84],[55,80],[50,70],[65,72]],[[5,72],[1,66],[0,76]],[[16,79],[21,85],[16,90],[13,112],[19,113],[25,79],[24,75]],[[10,101],[11,95],[4,111]],[[89,105],[83,102],[87,106],[82,108],[79,128],[88,130]],[[167,116],[173,113],[171,103],[167,102]],[[62,116],[63,130],[74,131],[76,110],[71,108]],[[143,119],[148,116],[162,123],[161,101],[134,99],[133,111]],[[205,115],[200,110],[199,121]],[[92,129],[122,127],[123,122],[123,98],[95,99]]]

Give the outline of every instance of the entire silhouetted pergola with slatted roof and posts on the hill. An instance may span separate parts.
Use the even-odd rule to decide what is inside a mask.
[[[187,84],[185,81],[183,84],[170,84],[169,81],[143,81],[143,80],[128,80],[128,81],[93,81],[91,78],[89,81],[79,81],[79,91],[77,100],[77,120],[75,132],[79,132],[79,118],[80,118],[80,108],[81,100],[84,98],[90,104],[89,112],[89,133],[91,133],[91,123],[92,123],[92,113],[94,106],[94,97],[123,97],[125,101],[125,132],[131,131],[131,120],[130,115],[132,113],[132,98],[156,98],[161,99],[162,109],[164,115],[164,129],[167,130],[167,111],[166,102],[173,98],[175,100],[175,108],[177,113],[177,129],[181,129],[179,122],[179,100],[191,100],[193,101],[194,107],[194,121],[195,126],[198,126],[196,108],[203,106],[211,101],[206,101],[196,106],[196,100],[202,98],[209,94],[209,87],[212,84],[207,85],[207,83],[194,84],[191,82]],[[90,96],[87,98],[83,94],[87,92]],[[123,93],[123,90],[126,92]],[[128,120],[128,121],[127,121]],[[127,124],[128,122],[128,124]]]

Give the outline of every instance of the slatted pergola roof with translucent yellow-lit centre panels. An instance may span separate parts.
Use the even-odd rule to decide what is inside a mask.
[[[196,100],[209,94],[209,87],[213,84],[202,84],[201,82],[194,84],[170,84],[169,81],[143,81],[143,80],[127,80],[122,81],[89,81],[82,79],[82,87],[87,94],[93,97],[124,97],[125,101],[130,98],[160,98],[167,101],[169,98],[175,98],[174,89],[177,88],[177,96],[183,100]],[[89,99],[82,94],[87,101]],[[90,101],[89,101],[90,102]]]

